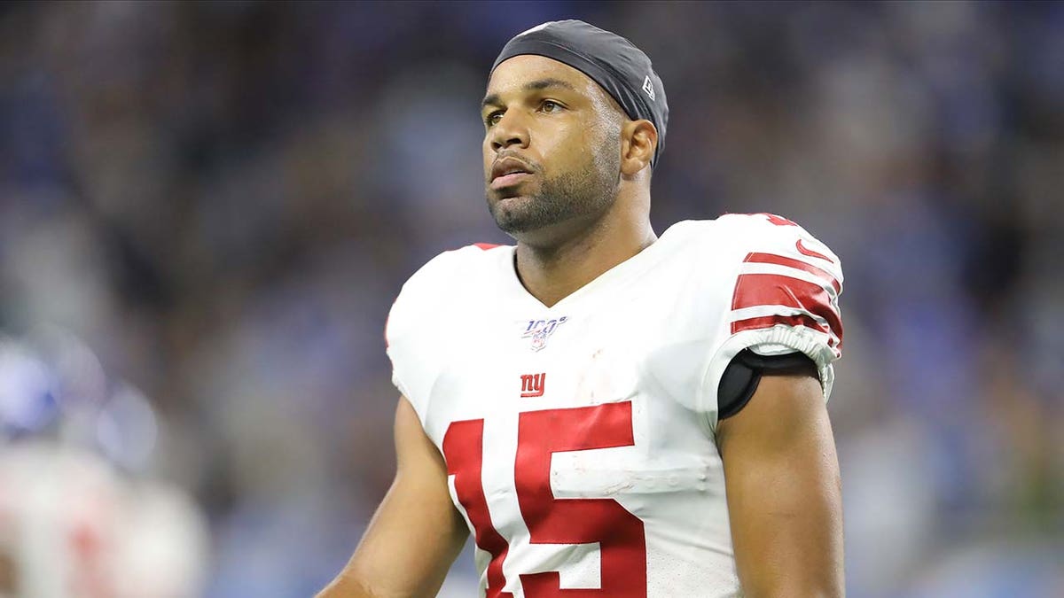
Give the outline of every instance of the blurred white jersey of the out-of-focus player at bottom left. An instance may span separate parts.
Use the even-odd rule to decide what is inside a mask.
[[[193,598],[207,542],[176,487],[70,446],[0,446],[0,598]]]

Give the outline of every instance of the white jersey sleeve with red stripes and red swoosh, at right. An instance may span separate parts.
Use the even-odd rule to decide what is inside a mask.
[[[780,216],[744,215],[734,226],[743,230],[736,236],[741,251],[729,279],[731,301],[702,392],[717,403],[720,377],[744,349],[761,355],[800,352],[816,365],[827,400],[834,381],[832,364],[843,348],[838,256]],[[715,427],[715,417],[711,423]]]

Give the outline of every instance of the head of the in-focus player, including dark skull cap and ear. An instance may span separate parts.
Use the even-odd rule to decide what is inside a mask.
[[[488,207],[527,240],[586,226],[625,185],[648,186],[668,107],[646,54],[613,33],[560,21],[506,44],[481,116]]]

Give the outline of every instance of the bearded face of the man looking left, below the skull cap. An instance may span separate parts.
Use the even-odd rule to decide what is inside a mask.
[[[503,231],[594,220],[620,180],[622,116],[591,78],[558,61],[500,64],[481,110],[487,205]]]

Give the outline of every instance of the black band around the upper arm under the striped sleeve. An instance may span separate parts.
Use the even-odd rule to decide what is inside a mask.
[[[735,355],[717,386],[717,419],[726,419],[743,410],[758,389],[762,376],[809,375],[817,378],[816,364],[805,353],[759,355],[744,349]]]

